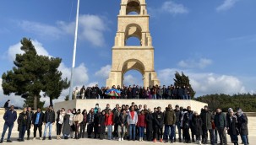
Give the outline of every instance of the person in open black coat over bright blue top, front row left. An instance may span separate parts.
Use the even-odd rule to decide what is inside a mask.
[[[38,129],[39,137],[41,139],[41,126],[44,121],[44,113],[41,112],[41,108],[38,108],[37,111],[34,114],[32,125],[34,126],[34,140],[36,137],[36,131]]]

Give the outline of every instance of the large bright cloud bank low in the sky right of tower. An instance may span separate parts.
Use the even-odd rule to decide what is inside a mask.
[[[162,84],[170,85],[173,83],[174,74],[179,69],[163,69],[158,72],[158,76]],[[222,75],[215,73],[194,73],[191,71],[183,71],[190,79],[190,83],[194,91],[197,92],[196,96],[204,94],[237,94],[247,93],[242,81],[230,75]]]

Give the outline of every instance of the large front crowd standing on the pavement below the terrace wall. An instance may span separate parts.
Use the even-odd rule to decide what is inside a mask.
[[[49,129],[48,139],[52,140],[52,126],[57,127],[57,140],[95,138],[128,141],[148,142],[197,142],[198,144],[227,144],[226,132],[231,137],[231,142],[238,145],[238,135],[242,144],[248,145],[248,117],[241,109],[221,109],[211,111],[204,106],[201,112],[193,111],[188,107],[172,105],[155,107],[153,110],[147,105],[116,105],[112,108],[106,105],[104,109],[96,104],[90,110],[65,109],[53,110],[49,106],[45,113],[40,108],[34,113],[30,107],[24,108],[17,116],[14,106],[11,106],[3,116],[5,120],[2,138],[8,129],[7,142],[12,142],[11,132],[14,122],[18,118],[19,142],[30,140],[30,130],[34,127],[36,140],[37,130],[39,139],[46,140],[46,132]],[[42,126],[45,126],[42,134]],[[177,132],[177,133],[176,133]],[[107,136],[106,136],[107,134]],[[210,136],[210,141],[208,140]],[[55,137],[54,137],[55,138]]]

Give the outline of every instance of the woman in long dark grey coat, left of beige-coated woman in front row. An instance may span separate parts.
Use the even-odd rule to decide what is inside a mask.
[[[71,133],[71,126],[74,124],[74,114],[72,110],[68,110],[68,113],[63,117],[63,136],[64,139],[68,139],[68,136]]]

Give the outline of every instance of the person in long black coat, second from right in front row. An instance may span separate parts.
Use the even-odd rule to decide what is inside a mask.
[[[234,145],[238,145],[238,121],[237,121],[237,116],[234,115],[233,110],[229,111],[229,117],[227,118],[226,121],[226,129],[227,133],[231,136],[231,142],[234,143]]]

